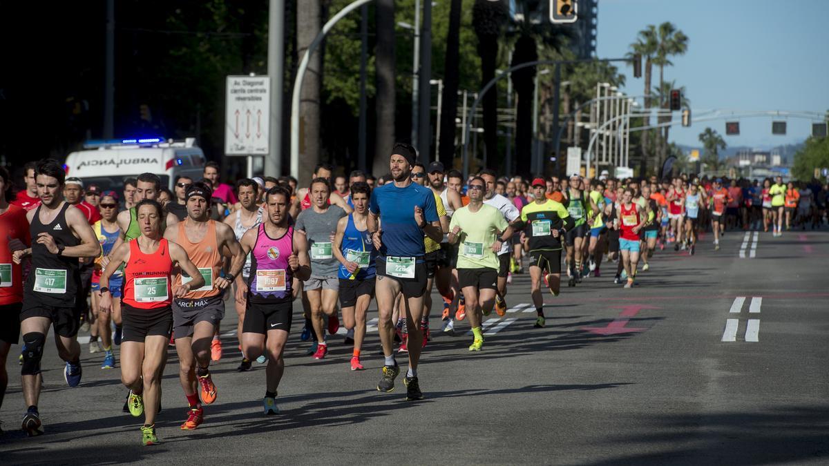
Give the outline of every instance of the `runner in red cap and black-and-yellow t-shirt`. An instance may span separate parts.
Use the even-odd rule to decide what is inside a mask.
[[[560,202],[547,199],[544,178],[532,181],[536,200],[521,209],[524,233],[521,243],[530,255],[532,303],[536,306],[536,328],[544,327],[544,299],[541,297],[541,279],[558,296],[561,286],[561,240],[574,228],[575,221]],[[545,273],[546,271],[546,273]],[[543,274],[543,277],[542,277]]]

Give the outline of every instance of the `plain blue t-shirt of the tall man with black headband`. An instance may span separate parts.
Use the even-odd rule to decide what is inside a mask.
[[[426,223],[439,221],[434,194],[428,187],[410,183],[397,187],[394,182],[376,187],[371,192],[369,211],[380,216],[380,255],[393,257],[419,257],[424,255],[423,230],[414,221],[414,207],[423,210]]]

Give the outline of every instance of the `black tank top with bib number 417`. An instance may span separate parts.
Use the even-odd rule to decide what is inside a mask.
[[[37,206],[32,224],[29,226],[29,234],[32,238],[37,238],[37,235],[41,233],[48,233],[55,239],[56,245],[69,247],[80,244],[80,240],[75,238],[66,223],[66,209],[69,208],[67,202],[63,203],[55,220],[48,225],[41,223],[41,208],[42,206]],[[45,245],[32,241],[32,271],[26,280],[24,302],[31,304],[28,301],[31,297],[34,303],[56,308],[74,308],[76,301],[81,299],[78,293],[80,289],[78,265],[77,257],[58,257],[49,252]]]

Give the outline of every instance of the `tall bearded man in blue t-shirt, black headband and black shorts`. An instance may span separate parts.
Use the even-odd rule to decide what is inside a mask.
[[[409,330],[409,370],[403,380],[406,400],[423,399],[417,376],[423,337],[419,314],[427,282],[423,237],[429,235],[435,241],[443,238],[434,194],[411,181],[416,158],[410,144],[395,143],[389,160],[394,181],[375,190],[368,218],[368,230],[380,253],[376,262],[376,294],[385,363],[377,390],[394,391],[395,377],[400,373],[392,349],[395,327],[391,314],[397,295],[402,293]]]

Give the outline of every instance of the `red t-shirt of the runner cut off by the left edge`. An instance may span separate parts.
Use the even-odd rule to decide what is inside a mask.
[[[26,211],[20,206],[9,206],[0,214],[0,231],[0,306],[5,306],[23,300],[22,267],[12,260],[8,243],[17,239],[27,247],[32,245]]]

